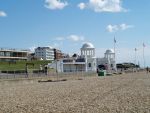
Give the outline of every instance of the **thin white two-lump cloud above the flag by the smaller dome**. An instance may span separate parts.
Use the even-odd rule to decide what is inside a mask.
[[[119,30],[126,30],[126,29],[129,29],[129,28],[132,28],[133,25],[127,25],[127,24],[120,24],[120,25],[108,25],[106,27],[106,30],[108,32],[116,32],[116,31],[119,31]]]

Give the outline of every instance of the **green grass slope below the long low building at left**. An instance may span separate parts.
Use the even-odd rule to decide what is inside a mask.
[[[44,67],[44,65],[47,65],[51,61],[16,61],[16,62],[0,62],[0,70],[1,71],[13,71],[13,70],[25,70],[26,63],[28,64],[34,64],[28,65],[29,69],[40,69],[40,65]]]

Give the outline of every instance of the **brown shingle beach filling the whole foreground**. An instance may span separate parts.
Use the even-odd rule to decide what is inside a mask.
[[[79,78],[1,80],[0,113],[150,113],[146,72]]]

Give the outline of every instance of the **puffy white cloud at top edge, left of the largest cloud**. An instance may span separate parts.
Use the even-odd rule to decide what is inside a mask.
[[[45,7],[52,10],[63,9],[68,5],[68,2],[61,2],[61,0],[45,0],[45,3]]]

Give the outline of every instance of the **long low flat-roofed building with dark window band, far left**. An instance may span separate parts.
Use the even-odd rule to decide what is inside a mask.
[[[0,61],[20,61],[28,59],[29,50],[0,48]]]

